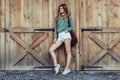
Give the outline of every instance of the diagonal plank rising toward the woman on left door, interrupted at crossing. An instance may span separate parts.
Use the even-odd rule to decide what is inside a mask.
[[[40,38],[37,39],[36,42],[34,42],[33,44],[31,44],[30,48],[34,49],[36,48],[40,43],[42,43],[48,36],[48,33],[44,33]],[[13,65],[16,65],[17,63],[19,63],[25,56],[27,56],[28,52],[26,52],[26,50],[22,51],[21,56],[19,56],[14,62]]]

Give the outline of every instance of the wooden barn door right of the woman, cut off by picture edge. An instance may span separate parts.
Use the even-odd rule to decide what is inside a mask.
[[[84,69],[120,70],[120,1],[83,1]]]

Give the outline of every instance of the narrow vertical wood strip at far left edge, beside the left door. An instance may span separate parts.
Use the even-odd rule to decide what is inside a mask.
[[[5,69],[5,0],[0,0],[0,70]]]

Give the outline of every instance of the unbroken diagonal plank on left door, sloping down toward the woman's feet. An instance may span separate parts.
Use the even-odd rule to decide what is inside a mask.
[[[29,52],[41,64],[43,64],[43,65],[48,64],[42,57],[39,57],[39,55],[36,51],[34,51],[32,48],[30,48],[24,41],[19,39],[19,37],[17,37],[14,33],[10,33],[10,37],[12,39],[14,39],[18,44],[20,44],[23,48],[25,48],[26,51]]]

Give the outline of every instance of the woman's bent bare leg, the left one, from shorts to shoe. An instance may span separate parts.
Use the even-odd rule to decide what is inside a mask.
[[[56,55],[55,55],[55,50],[62,44],[62,41],[59,41],[57,40],[56,43],[54,43],[52,45],[52,47],[50,48],[49,52],[50,52],[50,55],[52,57],[52,60],[53,60],[53,63],[54,63],[54,66],[57,65],[57,59],[56,59]]]

